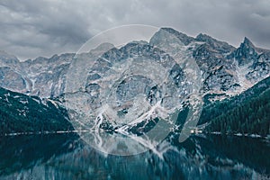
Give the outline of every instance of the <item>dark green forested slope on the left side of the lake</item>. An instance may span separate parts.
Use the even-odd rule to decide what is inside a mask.
[[[0,87],[0,134],[73,130],[67,113],[53,103],[40,103],[39,97],[18,94]]]

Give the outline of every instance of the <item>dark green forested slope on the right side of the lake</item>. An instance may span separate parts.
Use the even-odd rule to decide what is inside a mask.
[[[207,131],[270,133],[270,77],[230,99],[210,103],[206,96],[205,101],[200,123],[210,122]]]

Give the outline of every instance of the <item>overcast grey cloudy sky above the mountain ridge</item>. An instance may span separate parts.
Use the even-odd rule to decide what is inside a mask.
[[[22,60],[76,52],[124,24],[206,33],[234,46],[247,36],[270,49],[270,0],[1,0],[0,49]]]

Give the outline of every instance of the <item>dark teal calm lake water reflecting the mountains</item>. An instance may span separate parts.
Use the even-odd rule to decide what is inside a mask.
[[[193,135],[162,157],[105,156],[75,133],[0,137],[0,179],[270,179],[264,139]]]

